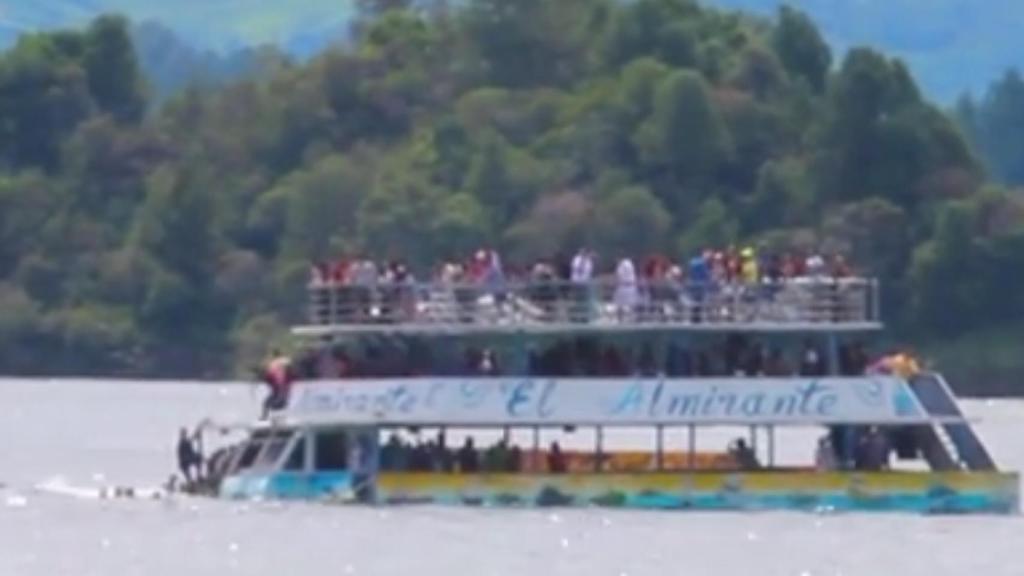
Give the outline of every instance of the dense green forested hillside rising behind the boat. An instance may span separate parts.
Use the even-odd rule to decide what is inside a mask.
[[[900,61],[833,66],[790,9],[465,4],[371,6],[351,47],[148,115],[125,22],[23,38],[0,60],[0,371],[226,374],[301,313],[313,258],[742,241],[847,252],[899,336],[971,382],[1020,373],[1024,204]]]

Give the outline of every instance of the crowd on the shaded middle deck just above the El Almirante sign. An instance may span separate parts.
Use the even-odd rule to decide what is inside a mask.
[[[671,340],[664,345],[652,341],[625,343],[602,341],[586,335],[567,336],[546,342],[531,342],[524,351],[509,349],[502,358],[494,347],[474,342],[434,349],[418,340],[395,340],[364,347],[334,345],[308,348],[295,360],[274,351],[259,371],[269,385],[267,409],[283,406],[287,388],[296,380],[337,378],[442,377],[657,377],[670,378],[745,376],[785,377],[862,375],[870,358],[859,341],[839,345],[835,366],[824,351],[811,339],[804,340],[799,353],[743,334],[730,334],[707,345],[688,346]],[[459,352],[461,348],[461,352]],[[873,367],[884,372],[888,357]],[[905,362],[903,363],[905,364]],[[904,372],[899,364],[900,374]]]

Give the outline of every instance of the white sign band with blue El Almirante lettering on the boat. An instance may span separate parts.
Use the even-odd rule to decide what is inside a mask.
[[[910,423],[905,381],[858,378],[407,378],[300,382],[287,415],[449,425]]]

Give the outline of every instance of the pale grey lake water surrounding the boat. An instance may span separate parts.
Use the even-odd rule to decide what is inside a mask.
[[[1024,573],[1019,517],[372,509],[51,495],[34,487],[159,484],[180,424],[244,419],[260,395],[226,384],[0,386],[2,576]],[[981,434],[996,460],[1024,468],[1024,403],[966,407],[985,420]]]

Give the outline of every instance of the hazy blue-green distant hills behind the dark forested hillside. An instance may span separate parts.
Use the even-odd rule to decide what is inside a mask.
[[[1019,64],[1024,22],[1019,0],[786,0],[814,18],[839,51],[871,45],[905,58],[932,95],[950,104],[980,92]],[[772,14],[783,0],[703,0]],[[341,37],[353,0],[0,0],[0,45],[23,30],[87,22],[104,11],[157,20],[200,50],[274,44],[296,56]]]

